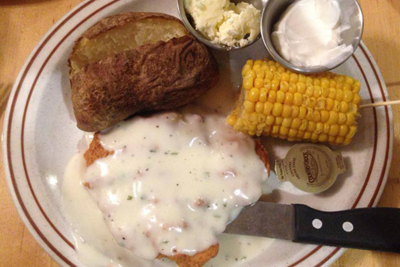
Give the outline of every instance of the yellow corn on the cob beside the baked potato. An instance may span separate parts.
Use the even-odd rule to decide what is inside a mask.
[[[356,131],[359,81],[325,72],[302,75],[271,60],[247,60],[227,123],[250,135],[346,145]]]

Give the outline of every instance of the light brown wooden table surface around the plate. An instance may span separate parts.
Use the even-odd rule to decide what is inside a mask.
[[[36,42],[79,2],[0,0],[0,85],[12,85]],[[400,0],[360,0],[360,3],[365,17],[362,39],[383,74],[390,98],[400,99]],[[379,205],[400,207],[400,106],[393,106],[393,120],[393,159]],[[59,266],[36,243],[19,219],[1,163],[0,168],[0,267]],[[400,266],[400,255],[348,249],[332,266]]]

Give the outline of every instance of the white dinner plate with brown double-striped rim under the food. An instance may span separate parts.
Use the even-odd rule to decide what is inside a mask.
[[[66,61],[73,41],[85,29],[102,17],[124,11],[177,16],[175,0],[83,1],[60,19],[32,51],[14,83],[5,113],[2,154],[9,191],[30,233],[62,266],[84,266],[76,256],[69,225],[60,210],[63,171],[83,136],[72,112]],[[247,48],[218,52],[216,56],[220,65],[230,70],[222,71],[220,79],[237,87],[245,60],[267,54],[258,40]],[[387,100],[382,76],[364,44],[334,72],[361,82],[362,103]],[[365,108],[360,113],[352,143],[332,147],[341,151],[347,167],[332,188],[319,194],[302,193],[271,175],[268,184],[273,190],[266,198],[280,203],[304,203],[321,210],[374,206],[390,166],[392,113],[387,106]],[[293,144],[277,139],[267,142],[272,161],[282,158]],[[328,266],[342,252],[336,247],[275,240],[262,253],[237,266]]]

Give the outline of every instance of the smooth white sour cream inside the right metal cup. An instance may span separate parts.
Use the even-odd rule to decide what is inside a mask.
[[[278,53],[294,65],[334,66],[353,52],[340,34],[350,27],[337,0],[297,0],[281,15],[271,34]]]

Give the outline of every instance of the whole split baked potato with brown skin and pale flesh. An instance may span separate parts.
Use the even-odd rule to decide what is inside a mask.
[[[211,52],[179,19],[162,13],[100,20],[76,40],[68,64],[73,110],[84,131],[185,105],[218,78]]]

